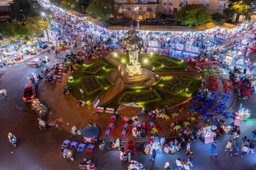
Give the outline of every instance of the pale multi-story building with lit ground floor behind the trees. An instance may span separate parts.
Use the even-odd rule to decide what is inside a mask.
[[[116,0],[122,5],[121,11],[125,17],[139,19],[154,19],[156,13],[175,14],[184,5],[205,5],[209,14],[223,13],[228,7],[228,0]]]

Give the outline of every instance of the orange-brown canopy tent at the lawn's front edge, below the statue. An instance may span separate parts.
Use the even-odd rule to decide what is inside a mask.
[[[142,108],[135,103],[122,103],[117,109],[117,113],[125,117],[138,116]]]

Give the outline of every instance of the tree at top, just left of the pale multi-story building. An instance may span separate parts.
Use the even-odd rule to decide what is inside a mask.
[[[94,0],[86,8],[90,17],[96,17],[100,21],[109,22],[110,19],[117,19],[120,5],[115,0]]]

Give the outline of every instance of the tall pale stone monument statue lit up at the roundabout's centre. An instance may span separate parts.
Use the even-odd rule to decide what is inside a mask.
[[[129,62],[126,65],[126,72],[129,77],[134,75],[142,75],[141,64],[139,63],[139,45],[142,39],[137,36],[136,30],[133,26],[127,32],[127,37],[124,39],[129,51]]]

